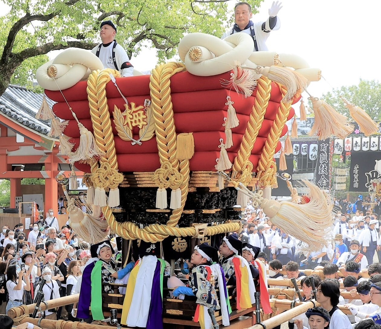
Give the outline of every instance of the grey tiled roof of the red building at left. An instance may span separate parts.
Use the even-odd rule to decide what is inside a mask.
[[[50,122],[35,118],[42,104],[43,94],[37,94],[24,87],[9,85],[0,96],[0,111],[30,129],[47,135],[50,131]],[[46,97],[50,108],[55,102]]]

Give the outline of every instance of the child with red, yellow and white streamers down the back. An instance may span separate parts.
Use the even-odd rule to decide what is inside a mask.
[[[226,285],[235,286],[232,297],[237,301],[237,309],[250,308],[255,304],[255,285],[249,263],[240,256],[242,241],[238,240],[235,234],[224,236],[219,253],[222,256],[221,266],[225,273]]]

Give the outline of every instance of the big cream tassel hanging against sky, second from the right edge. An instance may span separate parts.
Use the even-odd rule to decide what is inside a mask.
[[[322,99],[309,97],[312,101],[315,113],[315,123],[309,132],[310,136],[316,135],[320,140],[337,136],[341,139],[347,137],[354,126],[350,125],[348,118],[336,112],[336,110]]]

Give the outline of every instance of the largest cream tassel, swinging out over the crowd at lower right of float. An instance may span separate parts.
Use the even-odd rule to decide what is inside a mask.
[[[332,204],[328,202],[328,195],[308,180],[303,180],[309,188],[307,196],[309,202],[296,204],[289,201],[278,202],[264,199],[260,206],[269,216],[272,224],[277,225],[285,232],[293,232],[296,239],[309,244],[310,251],[318,251],[322,243],[327,245],[327,229],[331,222]]]

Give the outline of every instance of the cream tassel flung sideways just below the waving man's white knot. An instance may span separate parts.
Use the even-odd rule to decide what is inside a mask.
[[[256,72],[262,74],[275,83],[285,86],[287,93],[282,99],[283,103],[291,103],[292,100],[300,96],[307,88],[308,80],[298,72],[287,69],[286,67],[272,65],[270,67],[257,66]]]

